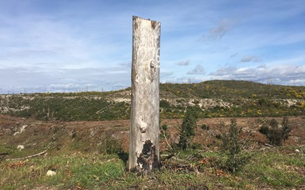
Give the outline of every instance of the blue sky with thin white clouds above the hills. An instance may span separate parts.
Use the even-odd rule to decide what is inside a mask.
[[[129,87],[132,15],[161,22],[162,83],[305,85],[302,0],[0,0],[0,94]]]

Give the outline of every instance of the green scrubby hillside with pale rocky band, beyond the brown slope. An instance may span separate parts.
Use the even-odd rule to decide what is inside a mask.
[[[237,80],[161,84],[162,118],[182,118],[187,106],[202,118],[305,114],[305,87]],[[40,120],[103,121],[130,118],[130,88],[115,92],[0,95],[0,114]]]

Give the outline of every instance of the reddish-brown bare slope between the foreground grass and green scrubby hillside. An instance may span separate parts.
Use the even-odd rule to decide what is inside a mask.
[[[265,135],[259,132],[261,121],[272,118],[237,118],[242,129],[242,138],[250,140],[250,146],[268,144]],[[281,123],[282,118],[275,118]],[[305,116],[290,116],[289,123],[293,130],[284,146],[305,145]],[[227,130],[221,122],[230,123],[230,118],[200,119],[195,130],[193,142],[206,148],[217,148],[220,137]],[[182,119],[162,119],[168,126],[166,139],[169,144],[177,143]],[[202,124],[209,130],[202,129]],[[118,141],[124,151],[129,145],[129,120],[120,121],[37,121],[0,114],[0,146],[17,149],[23,145],[26,154],[47,150],[49,155],[60,153],[99,152],[105,148],[106,139]],[[160,150],[168,149],[165,137],[160,132]],[[1,150],[1,149],[0,149]],[[10,155],[8,155],[10,157]]]

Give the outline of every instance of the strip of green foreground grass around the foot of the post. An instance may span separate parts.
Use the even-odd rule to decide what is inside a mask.
[[[126,173],[124,153],[46,155],[0,162],[0,189],[304,189],[305,157],[296,148],[247,150],[236,173],[225,171],[218,151],[189,150],[147,176]]]

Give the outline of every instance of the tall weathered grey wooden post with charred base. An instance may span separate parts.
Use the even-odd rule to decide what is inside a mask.
[[[132,18],[132,105],[128,170],[159,166],[160,22]]]

